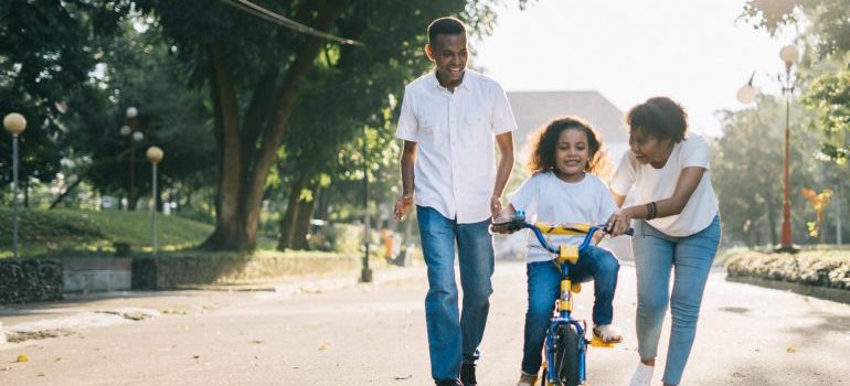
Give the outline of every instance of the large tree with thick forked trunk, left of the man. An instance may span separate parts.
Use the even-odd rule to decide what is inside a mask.
[[[215,230],[204,244],[219,249],[252,249],[266,179],[284,143],[305,79],[321,61],[323,49],[329,49],[328,42],[265,22],[221,2],[141,0],[138,3],[160,18],[166,33],[180,47],[184,63],[193,69],[193,78],[210,85],[219,200]],[[389,56],[387,51],[419,49],[414,46],[417,41],[397,46],[371,46],[370,33],[374,39],[386,39],[385,34],[397,32],[375,29],[372,20],[376,15],[382,15],[382,20],[395,17],[391,24],[394,29],[417,26],[424,31],[428,15],[461,10],[477,15],[481,10],[490,10],[485,1],[459,0],[257,3],[315,30],[359,36],[365,43],[365,47],[331,45],[331,51],[339,55],[338,60],[331,58],[334,63],[343,63],[347,57],[370,60],[370,56]],[[480,19],[470,20],[472,25],[481,25]],[[352,90],[340,88],[338,93],[344,96]]]

